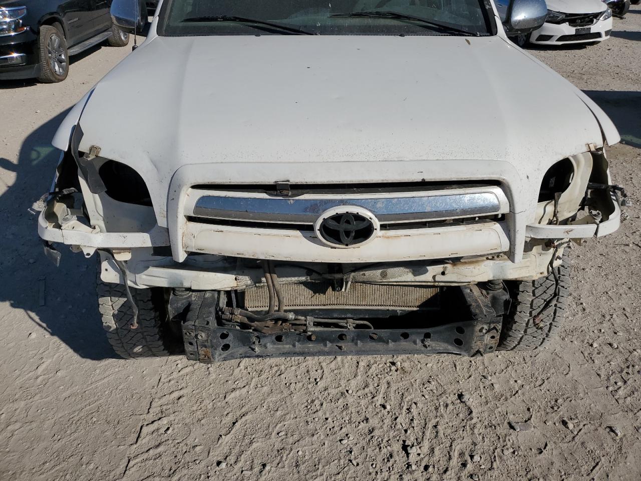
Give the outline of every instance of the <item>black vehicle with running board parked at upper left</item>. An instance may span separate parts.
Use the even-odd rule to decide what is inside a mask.
[[[0,79],[67,78],[69,56],[129,34],[112,23],[112,0],[0,0]]]

